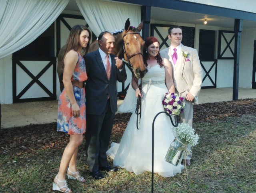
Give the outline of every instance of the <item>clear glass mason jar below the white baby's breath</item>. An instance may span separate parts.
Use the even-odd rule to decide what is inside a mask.
[[[186,146],[186,142],[179,138],[175,138],[168,149],[165,161],[168,161],[173,165],[179,165],[185,155]]]

